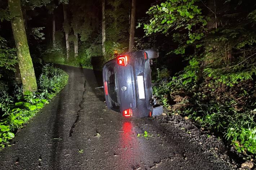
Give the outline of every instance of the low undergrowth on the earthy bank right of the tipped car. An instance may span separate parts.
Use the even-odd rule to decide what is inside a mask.
[[[195,68],[185,68],[191,71],[178,73],[168,82],[158,81],[154,95],[170,113],[188,116],[200,126],[222,133],[238,152],[255,154],[256,84],[252,75],[247,78],[241,73],[230,80],[227,73],[225,80],[222,74],[199,83]]]

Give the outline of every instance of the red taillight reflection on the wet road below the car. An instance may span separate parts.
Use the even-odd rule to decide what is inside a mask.
[[[140,165],[140,147],[138,147],[138,139],[131,122],[124,122],[122,131],[120,136],[121,169],[131,169],[131,167]]]

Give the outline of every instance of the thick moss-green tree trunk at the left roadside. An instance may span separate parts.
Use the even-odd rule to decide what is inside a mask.
[[[21,0],[8,0],[8,5],[12,15],[15,16],[15,18],[11,20],[11,23],[13,37],[17,48],[23,92],[35,92],[37,91],[36,77],[27,44],[27,36],[21,10]]]

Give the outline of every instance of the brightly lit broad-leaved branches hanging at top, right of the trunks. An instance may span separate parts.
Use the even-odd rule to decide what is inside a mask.
[[[185,54],[189,45],[197,45],[199,48],[202,46],[199,41],[205,36],[207,20],[202,15],[202,9],[196,5],[198,1],[167,0],[152,6],[147,11],[151,19],[148,24],[144,24],[146,35],[162,33],[167,36],[172,32],[173,41],[178,44],[171,51],[174,54]]]

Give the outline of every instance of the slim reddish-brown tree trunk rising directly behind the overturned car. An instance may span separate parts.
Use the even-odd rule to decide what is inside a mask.
[[[135,12],[136,12],[136,0],[132,0],[132,13],[131,13],[130,38],[129,38],[129,51],[132,51],[132,48],[134,46]]]

